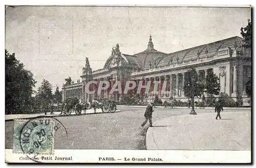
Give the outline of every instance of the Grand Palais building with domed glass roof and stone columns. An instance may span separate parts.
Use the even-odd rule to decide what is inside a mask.
[[[176,100],[187,101],[184,96],[184,72],[195,68],[199,75],[206,76],[213,71],[221,85],[220,93],[226,93],[234,100],[245,95],[245,83],[251,76],[251,49],[242,45],[241,37],[200,45],[173,53],[164,53],[154,48],[152,36],[145,44],[145,50],[134,55],[124,54],[117,44],[112,54],[106,60],[102,69],[92,71],[88,58],[82,68],[81,80],[72,81],[71,85],[63,84],[62,100],[78,97],[83,101],[108,98],[120,100],[121,95],[112,95],[108,90],[88,95],[85,92],[86,83],[90,80],[108,80],[111,83],[119,80],[140,80],[146,82],[167,81],[169,94],[162,94],[160,89],[140,95],[141,102],[150,102],[158,94],[165,101],[171,96]],[[146,42],[146,39],[145,39]],[[206,95],[207,96],[207,95]]]

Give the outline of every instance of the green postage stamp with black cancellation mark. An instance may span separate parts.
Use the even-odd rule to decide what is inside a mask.
[[[13,153],[54,153],[54,121],[50,119],[16,120]]]

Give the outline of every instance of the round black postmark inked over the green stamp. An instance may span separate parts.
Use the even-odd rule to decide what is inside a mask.
[[[37,117],[28,120],[20,129],[20,149],[29,159],[41,162],[36,156],[54,154],[54,132],[61,128],[65,130],[68,137],[66,127],[53,117]]]

